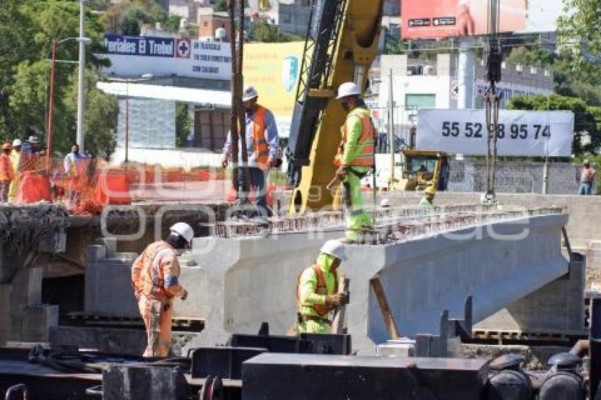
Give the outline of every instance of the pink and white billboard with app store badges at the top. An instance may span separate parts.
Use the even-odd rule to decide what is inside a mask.
[[[403,39],[488,33],[489,0],[400,0]],[[554,32],[561,0],[499,1],[500,32]]]

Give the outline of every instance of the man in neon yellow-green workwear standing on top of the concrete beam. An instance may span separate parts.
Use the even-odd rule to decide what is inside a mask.
[[[360,95],[361,91],[353,82],[342,83],[338,88],[337,99],[342,102],[344,111],[349,112],[341,129],[338,154],[334,158],[334,164],[338,166],[336,175],[343,182],[348,242],[358,241],[361,230],[373,226],[371,217],[363,208],[361,179],[374,165],[375,128],[371,112]]]

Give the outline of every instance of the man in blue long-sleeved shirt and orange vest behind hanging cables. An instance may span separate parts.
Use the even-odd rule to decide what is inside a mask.
[[[269,168],[276,167],[279,157],[279,134],[276,126],[274,114],[267,108],[259,105],[259,93],[252,86],[247,86],[243,93],[243,107],[246,114],[246,151],[248,155],[248,170],[250,172],[250,187],[255,191],[257,199],[258,217],[266,218],[267,213],[267,184],[266,175]],[[242,162],[242,148],[238,143],[238,159]],[[229,159],[232,157],[232,137],[228,133],[228,139],[223,146],[223,157],[221,165],[228,166]],[[234,180],[234,189],[238,196],[238,188],[244,187],[245,176],[243,169],[238,166],[238,160],[233,160],[234,167],[237,168]]]

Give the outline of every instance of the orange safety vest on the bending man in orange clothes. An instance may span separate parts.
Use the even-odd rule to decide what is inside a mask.
[[[147,298],[155,300],[173,298],[173,295],[165,290],[165,275],[163,268],[161,268],[163,257],[158,257],[161,252],[165,252],[165,254],[168,252],[175,253],[175,250],[164,241],[155,242],[148,246],[142,254],[142,268],[139,276],[141,292]]]

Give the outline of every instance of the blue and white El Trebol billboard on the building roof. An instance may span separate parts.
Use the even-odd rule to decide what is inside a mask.
[[[111,65],[106,75],[185,76],[187,78],[231,78],[229,43],[170,37],[105,35],[104,45]]]

